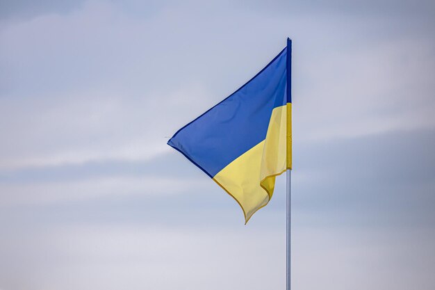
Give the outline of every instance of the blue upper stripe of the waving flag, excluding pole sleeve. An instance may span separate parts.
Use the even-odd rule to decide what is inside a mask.
[[[287,49],[261,72],[167,142],[210,177],[262,140],[273,108],[284,106]]]

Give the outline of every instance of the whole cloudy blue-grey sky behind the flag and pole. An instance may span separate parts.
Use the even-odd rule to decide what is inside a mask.
[[[286,286],[167,140],[293,40],[292,287],[435,285],[435,3],[0,1],[0,290]]]

